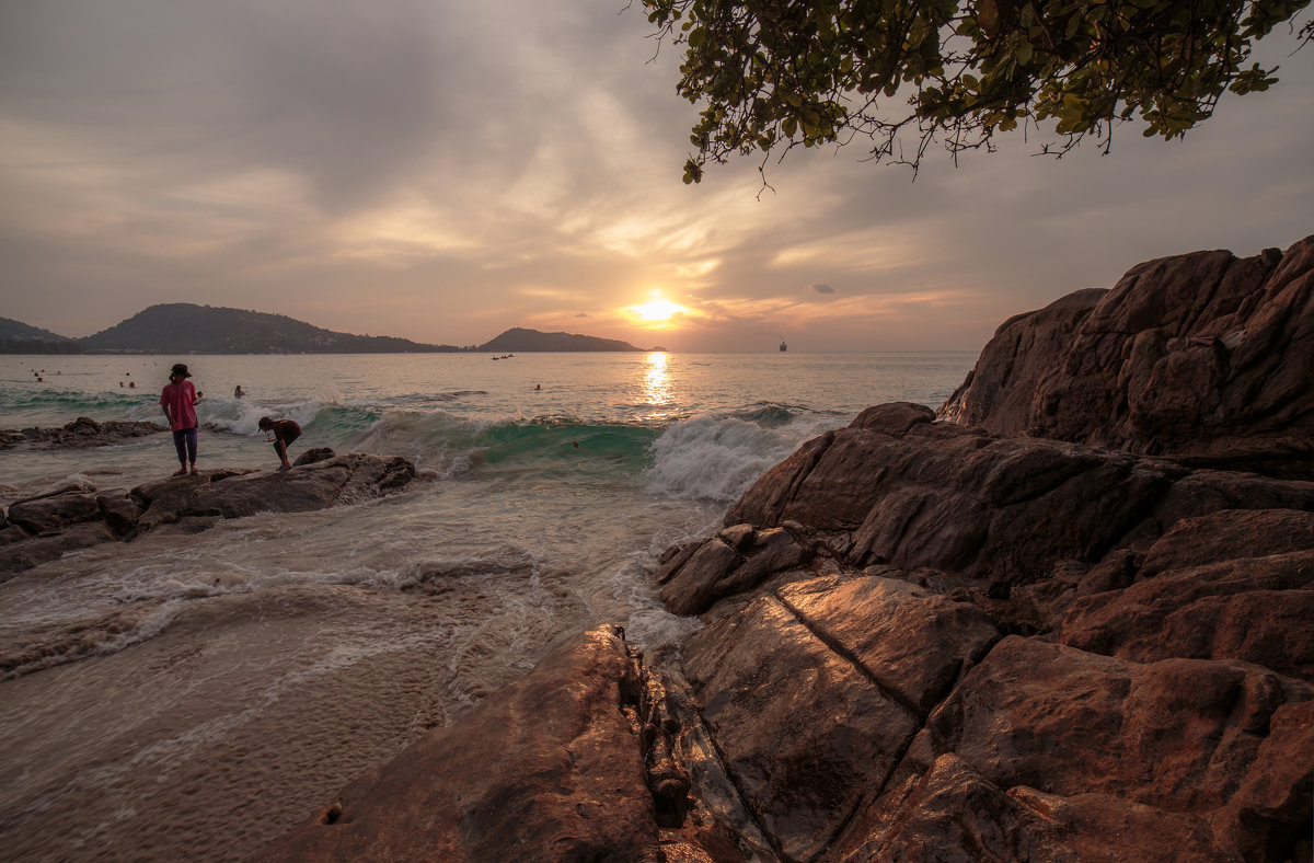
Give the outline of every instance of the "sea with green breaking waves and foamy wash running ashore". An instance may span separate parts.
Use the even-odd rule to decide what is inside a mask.
[[[385,499],[147,535],[0,583],[4,859],[243,859],[557,638],[616,623],[660,650],[698,625],[657,600],[662,550],[862,409],[938,407],[975,360],[0,356],[0,428],[163,422],[183,361],[202,470],[276,468],[268,415],[301,423],[293,460],[331,447],[420,472]],[[167,433],[0,452],[0,503],[176,468]]]

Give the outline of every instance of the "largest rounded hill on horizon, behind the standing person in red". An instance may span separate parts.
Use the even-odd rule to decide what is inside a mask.
[[[79,339],[88,351],[129,353],[440,353],[452,345],[334,332],[286,315],[163,303]]]

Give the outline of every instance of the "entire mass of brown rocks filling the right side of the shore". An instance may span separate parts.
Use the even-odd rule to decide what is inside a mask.
[[[1309,860],[1314,238],[1005,322],[265,860]]]

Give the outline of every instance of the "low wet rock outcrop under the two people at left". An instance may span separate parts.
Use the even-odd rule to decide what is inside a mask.
[[[415,478],[415,466],[401,457],[315,452],[318,460],[298,461],[293,470],[205,470],[130,491],[68,486],[14,500],[0,524],[0,579],[67,552],[130,541],[162,525],[196,532],[219,519],[360,503],[398,491]]]

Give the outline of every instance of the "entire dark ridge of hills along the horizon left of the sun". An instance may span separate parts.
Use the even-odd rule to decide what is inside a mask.
[[[0,353],[456,353],[643,351],[616,339],[512,327],[481,345],[424,344],[323,330],[286,315],[160,303],[81,339],[0,318]],[[665,348],[652,348],[662,351]]]

